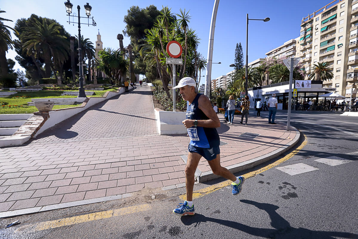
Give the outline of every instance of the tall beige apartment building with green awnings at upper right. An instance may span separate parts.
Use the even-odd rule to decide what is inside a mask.
[[[327,62],[334,77],[323,87],[335,88],[337,94],[350,97],[358,82],[358,0],[335,0],[303,18],[297,57],[304,70],[317,62]],[[357,89],[353,89],[355,97]]]

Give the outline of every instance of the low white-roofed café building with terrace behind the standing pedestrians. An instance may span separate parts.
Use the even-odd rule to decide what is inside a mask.
[[[317,109],[319,105],[326,105],[325,99],[320,99],[320,95],[326,94],[328,92],[336,91],[336,88],[324,88],[322,87],[321,81],[311,81],[310,87],[300,87],[295,88],[294,83],[292,84],[292,97],[291,97],[291,108],[294,109],[305,109],[304,105],[307,105],[309,101],[312,101],[311,109]],[[288,109],[288,99],[289,99],[289,82],[282,82],[277,84],[271,84],[267,86],[258,86],[248,89],[248,96],[250,97],[250,107],[255,108],[256,102],[258,99],[261,99],[262,103],[267,102],[272,94],[276,94],[277,99],[277,109],[287,110]],[[293,97],[293,90],[297,90],[297,97]]]

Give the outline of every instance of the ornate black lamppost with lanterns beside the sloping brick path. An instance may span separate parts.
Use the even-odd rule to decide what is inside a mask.
[[[65,2],[65,6],[66,6],[66,12],[68,13],[68,24],[70,23],[76,23],[70,20],[70,16],[76,16],[76,13],[72,14],[72,6],[73,4],[70,3],[69,0],[67,0],[67,2]],[[77,10],[78,10],[78,62],[79,62],[79,88],[78,88],[78,96],[77,97],[87,97],[86,93],[84,92],[84,87],[83,87],[83,66],[86,66],[86,64],[83,64],[83,59],[82,59],[82,49],[81,49],[81,24],[87,24],[89,26],[89,16],[91,16],[91,10],[92,7],[87,3],[86,5],[84,5],[84,9],[86,10],[86,15],[87,15],[87,23],[81,23],[81,18],[86,18],[83,16],[80,16],[80,7],[79,5],[77,5]],[[96,22],[95,20],[93,20],[92,17],[92,25],[96,26]]]

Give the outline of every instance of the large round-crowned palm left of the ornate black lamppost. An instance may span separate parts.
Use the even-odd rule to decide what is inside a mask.
[[[58,23],[48,25],[45,18],[42,23],[33,18],[31,23],[33,27],[27,28],[26,35],[21,38],[23,51],[31,56],[34,49],[35,57],[44,59],[46,77],[50,77],[53,61],[63,62],[63,57],[68,56],[69,42],[66,36],[60,34],[61,26]]]

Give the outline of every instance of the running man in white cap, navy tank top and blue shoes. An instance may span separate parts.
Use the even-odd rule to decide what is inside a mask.
[[[198,94],[196,83],[191,77],[184,77],[179,81],[179,93],[187,101],[187,119],[183,120],[188,130],[190,143],[188,146],[188,161],[185,166],[185,187],[187,189],[187,200],[179,204],[173,212],[176,215],[194,215],[193,187],[194,173],[198,167],[201,157],[204,157],[214,174],[232,181],[232,194],[237,195],[241,191],[243,176],[235,177],[228,169],[220,165],[220,139],[216,131],[220,127],[220,121],[211,107],[210,100],[203,94]]]

